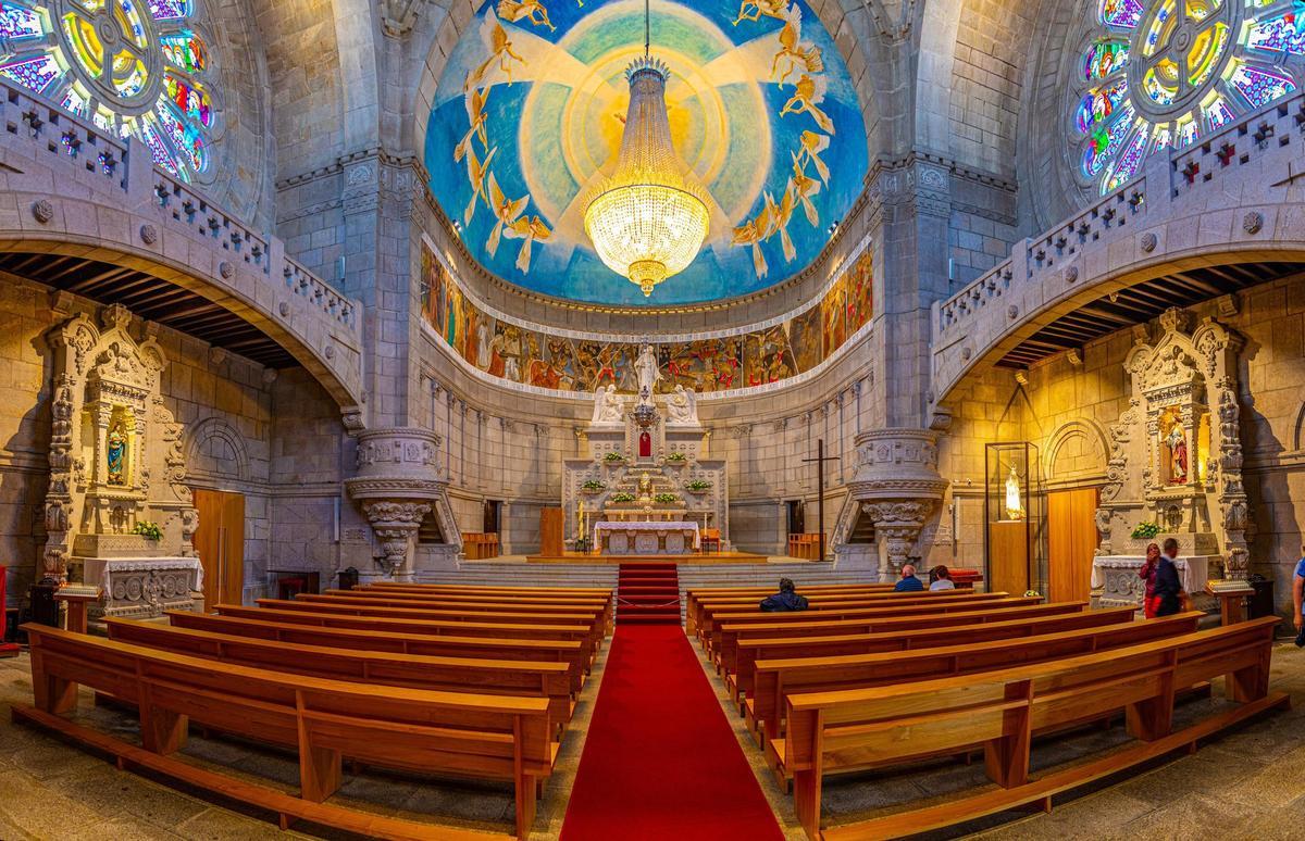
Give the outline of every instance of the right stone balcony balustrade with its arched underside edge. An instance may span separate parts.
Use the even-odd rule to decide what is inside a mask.
[[[1167,265],[1181,270],[1255,252],[1305,258],[1305,194],[1295,184],[1302,132],[1298,95],[1190,147],[1152,155],[1139,177],[1017,243],[1010,258],[933,305],[930,402],[944,404],[966,373],[1060,316],[1159,276]]]

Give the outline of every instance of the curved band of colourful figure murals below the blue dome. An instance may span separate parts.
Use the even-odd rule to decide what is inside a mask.
[[[820,300],[773,327],[655,344],[663,377],[658,391],[748,389],[814,369],[872,319],[873,269],[867,252]],[[429,246],[422,249],[419,284],[431,329],[487,374],[557,391],[589,392],[607,385],[621,394],[637,390],[638,343],[552,335],[482,312]]]

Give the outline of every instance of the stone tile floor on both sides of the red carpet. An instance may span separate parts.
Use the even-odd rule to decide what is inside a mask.
[[[540,801],[532,841],[553,841],[561,832],[604,662],[606,649],[585,686],[562,743],[557,772]],[[756,742],[744,731],[741,718],[731,713],[723,685],[705,661],[703,669],[784,834],[795,841],[804,838],[792,798],[780,791]],[[963,832],[940,837],[966,832],[992,841],[1191,838],[1198,834],[1219,836],[1220,841],[1305,837],[1305,651],[1291,644],[1276,647],[1272,685],[1292,694],[1295,707],[1291,712],[1270,716],[1207,743],[1193,756],[1161,763],[1114,785],[1058,802],[1049,815],[1002,815],[985,825],[966,827]],[[1219,688],[1216,686],[1211,700],[1185,704],[1181,715],[1201,715],[1208,705],[1223,703]],[[9,704],[30,700],[26,655],[0,660],[0,841],[335,837],[316,828],[281,833],[268,820],[206,801],[202,793],[181,791],[119,772],[98,756],[38,730],[12,725]],[[114,729],[121,738],[134,739],[129,715],[94,708],[89,698],[84,699],[80,715],[98,728]],[[1084,733],[1040,746],[1035,759],[1060,761],[1109,747],[1118,739],[1118,728]],[[294,786],[296,765],[281,752],[198,737],[192,737],[187,751],[235,773]],[[835,778],[826,782],[825,812],[831,823],[843,823],[906,799],[946,795],[949,790],[980,780],[980,767],[949,763],[910,775]],[[368,773],[350,777],[339,798],[373,811],[412,811],[468,828],[510,829],[512,793],[504,786],[432,785],[398,775]]]

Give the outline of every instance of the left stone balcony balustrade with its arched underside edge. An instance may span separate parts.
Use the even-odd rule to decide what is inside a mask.
[[[358,301],[287,257],[275,236],[157,168],[132,138],[5,80],[0,126],[0,249],[85,256],[181,286],[266,332],[358,415]]]

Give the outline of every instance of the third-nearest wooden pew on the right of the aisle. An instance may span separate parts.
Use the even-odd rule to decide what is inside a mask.
[[[1022,636],[1130,623],[1135,614],[1137,612],[1133,608],[1109,608],[1105,610],[1084,610],[1082,613],[1066,613],[1061,615],[1004,619],[983,625],[967,622],[959,626],[950,625],[951,618],[949,617],[944,619],[942,625],[914,631],[895,630],[877,634],[740,639],[735,664],[736,671],[726,675],[726,683],[729,686],[732,698],[739,701],[753,692],[753,678],[758,660],[873,655],[953,645],[958,642],[985,643],[997,639],[1018,639]]]

